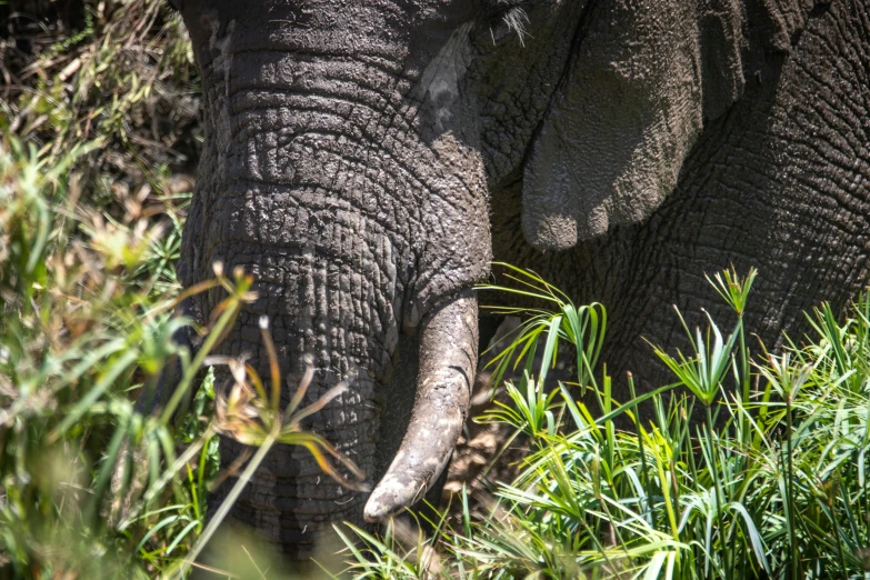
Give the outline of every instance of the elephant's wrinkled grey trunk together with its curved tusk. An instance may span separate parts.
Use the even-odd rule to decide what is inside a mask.
[[[196,7],[184,16],[202,72],[206,143],[179,276],[194,284],[218,260],[254,276],[259,299],[222,352],[246,354],[268,376],[258,326],[268,316],[284,402],[304,354],[316,369],[307,402],[348,381],[303,428],[349,456],[369,483],[392,460],[391,440],[410,414],[366,511],[366,496],[331,481],[304,449],[270,451],[232,518],[299,559],[329,522],[394,513],[442,471],[477,360],[477,303],[467,289],[486,278],[491,243],[482,159],[458,130],[434,128],[447,122],[444,83],[406,62],[398,36],[343,30],[329,2],[310,13],[290,4],[237,3],[262,10],[257,18]],[[272,28],[258,29],[263,22]],[[206,319],[222,299],[194,297],[193,310]],[[392,382],[402,329],[420,338],[419,360],[401,359],[402,369],[420,369],[410,413],[413,380]],[[221,441],[224,466],[244,452]]]

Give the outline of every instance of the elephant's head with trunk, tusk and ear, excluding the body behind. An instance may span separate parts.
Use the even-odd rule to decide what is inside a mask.
[[[646,219],[740,97],[749,50],[738,0],[176,3],[207,130],[182,280],[218,260],[257,277],[223,349],[263,368],[267,314],[290,386],[304,353],[312,397],[349,380],[311,427],[376,483],[367,498],[271,452],[233,516],[298,553],[327,522],[411,504],[444,468],[476,372],[469,290],[489,272],[493,196],[522,182],[522,230],[544,250]],[[788,43],[789,13],[752,10]],[[240,452],[222,444],[226,461]]]

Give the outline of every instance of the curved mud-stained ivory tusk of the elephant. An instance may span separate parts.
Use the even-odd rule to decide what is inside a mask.
[[[363,516],[378,522],[423,497],[447,466],[468,414],[478,362],[478,301],[470,291],[422,321],[417,397],[408,431]]]

